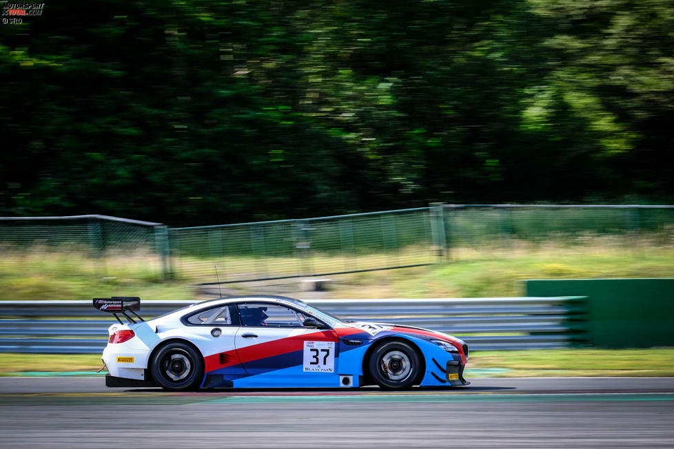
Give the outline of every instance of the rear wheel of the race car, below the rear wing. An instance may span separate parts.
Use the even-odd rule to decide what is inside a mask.
[[[152,378],[166,390],[196,390],[203,378],[201,354],[189,344],[172,342],[152,357]]]

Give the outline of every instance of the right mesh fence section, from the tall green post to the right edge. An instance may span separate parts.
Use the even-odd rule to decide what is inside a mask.
[[[442,209],[453,259],[546,247],[639,251],[674,246],[673,206],[443,205]]]

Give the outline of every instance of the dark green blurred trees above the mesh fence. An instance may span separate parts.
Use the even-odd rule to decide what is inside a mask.
[[[0,27],[0,215],[671,201],[668,0],[70,1]]]

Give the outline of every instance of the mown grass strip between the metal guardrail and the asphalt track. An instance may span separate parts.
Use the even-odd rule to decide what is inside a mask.
[[[674,377],[673,349],[551,349],[478,351],[466,370],[493,377]],[[0,375],[21,372],[94,371],[98,354],[0,354]],[[489,373],[490,369],[497,369]]]

